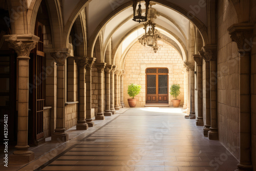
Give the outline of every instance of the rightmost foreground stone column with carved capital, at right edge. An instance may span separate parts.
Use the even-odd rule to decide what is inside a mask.
[[[240,163],[238,164],[238,170],[252,170],[251,120],[253,120],[252,115],[255,109],[253,103],[255,102],[255,95],[253,94],[254,87],[251,78],[254,78],[255,66],[252,63],[255,60],[251,57],[252,45],[250,40],[253,37],[253,27],[254,24],[244,23],[234,24],[228,28],[231,39],[237,43],[240,53]]]

